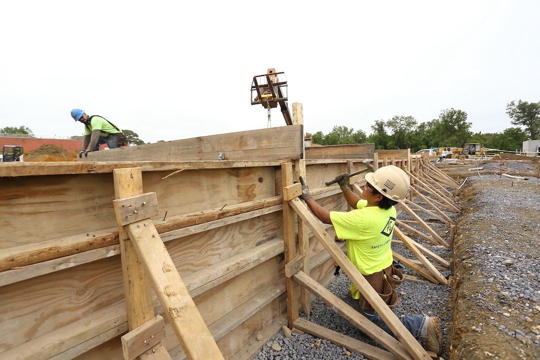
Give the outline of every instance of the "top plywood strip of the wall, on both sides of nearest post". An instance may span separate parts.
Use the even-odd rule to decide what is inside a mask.
[[[274,168],[145,172],[145,192],[156,192],[154,219],[273,196]],[[0,249],[116,227],[112,174],[1,178]],[[32,226],[21,226],[24,223]],[[158,224],[156,224],[158,225]],[[91,236],[92,234],[90,234]]]

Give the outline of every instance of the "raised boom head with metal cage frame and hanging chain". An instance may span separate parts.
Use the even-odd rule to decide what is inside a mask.
[[[251,84],[251,105],[261,104],[268,109],[268,120],[270,120],[270,109],[281,108],[281,113],[287,125],[293,125],[291,112],[287,106],[287,79],[285,73],[275,72],[275,69],[268,69],[266,74],[253,77]]]

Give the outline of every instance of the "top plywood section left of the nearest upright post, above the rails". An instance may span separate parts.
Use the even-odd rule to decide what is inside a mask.
[[[112,174],[2,178],[0,248],[114,228],[113,199]]]

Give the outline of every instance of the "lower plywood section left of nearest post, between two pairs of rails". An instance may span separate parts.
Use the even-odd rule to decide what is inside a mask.
[[[119,256],[2,287],[0,351],[123,299]]]

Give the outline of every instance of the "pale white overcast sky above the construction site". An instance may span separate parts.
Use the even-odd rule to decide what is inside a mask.
[[[540,101],[539,15],[538,0],[9,2],[0,127],[80,135],[78,107],[145,142],[266,128],[250,87],[274,67],[306,132],[447,108],[502,132],[510,101]]]

